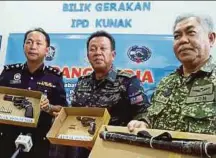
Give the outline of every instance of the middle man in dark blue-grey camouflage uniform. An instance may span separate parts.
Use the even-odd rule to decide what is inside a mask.
[[[110,125],[142,126],[142,113],[149,106],[141,82],[135,75],[118,71],[113,66],[115,40],[105,31],[93,33],[87,41],[87,56],[94,72],[78,79],[72,106],[107,108]],[[82,149],[79,157],[87,157]]]

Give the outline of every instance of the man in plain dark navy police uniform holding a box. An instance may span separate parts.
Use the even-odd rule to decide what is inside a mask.
[[[19,154],[19,157],[49,157],[50,144],[46,139],[46,134],[51,127],[52,114],[61,109],[60,105],[67,105],[62,73],[51,66],[45,66],[43,63],[49,46],[49,35],[43,29],[29,30],[25,33],[23,45],[27,62],[4,66],[0,76],[0,86],[41,91],[47,95],[47,99],[41,103],[42,111],[37,128],[0,125],[1,158],[12,156],[15,151],[14,142],[21,132],[32,134],[33,148],[29,153]]]

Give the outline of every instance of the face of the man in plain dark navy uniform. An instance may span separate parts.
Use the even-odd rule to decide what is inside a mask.
[[[43,61],[48,50],[49,47],[47,47],[46,37],[42,33],[33,31],[27,35],[24,51],[28,61]]]

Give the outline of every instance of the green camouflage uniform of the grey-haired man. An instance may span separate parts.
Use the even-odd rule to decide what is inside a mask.
[[[152,128],[216,134],[216,64],[183,77],[182,67],[162,79],[147,118]]]

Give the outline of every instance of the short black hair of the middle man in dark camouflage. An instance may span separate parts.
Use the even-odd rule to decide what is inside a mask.
[[[94,32],[90,35],[90,37],[87,40],[87,50],[88,50],[89,43],[90,43],[91,39],[94,37],[107,37],[110,40],[111,49],[115,50],[115,39],[113,38],[113,36],[111,34],[109,34],[106,31],[103,31],[103,30]]]

